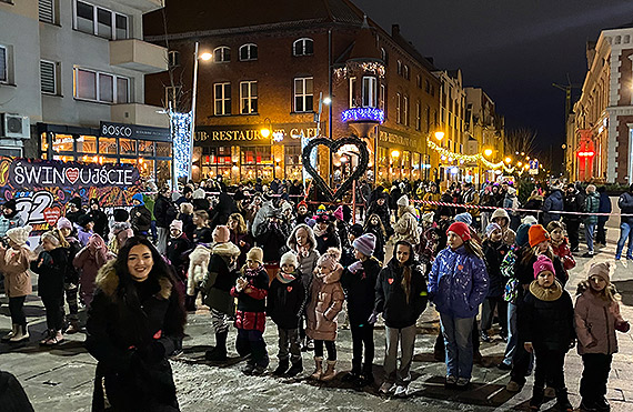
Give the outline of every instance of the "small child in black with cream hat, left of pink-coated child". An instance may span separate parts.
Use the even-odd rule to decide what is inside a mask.
[[[279,366],[273,374],[287,378],[295,376],[303,371],[301,348],[299,344],[299,316],[303,309],[305,290],[301,282],[301,273],[297,271],[297,254],[287,252],[281,257],[281,270],[270,284],[267,313],[277,324],[279,332]],[[290,361],[288,366],[290,346]]]

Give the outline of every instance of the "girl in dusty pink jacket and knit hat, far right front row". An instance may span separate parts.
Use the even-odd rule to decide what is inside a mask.
[[[629,331],[609,277],[609,262],[591,265],[587,280],[579,284],[574,309],[577,350],[584,370],[580,393],[583,411],[609,411],[604,398],[613,353],[617,352],[615,331]]]

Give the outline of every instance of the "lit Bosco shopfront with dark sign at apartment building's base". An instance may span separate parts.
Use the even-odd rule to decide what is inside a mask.
[[[162,184],[171,178],[169,129],[102,122],[97,128],[38,123],[42,159],[86,163],[128,163]]]

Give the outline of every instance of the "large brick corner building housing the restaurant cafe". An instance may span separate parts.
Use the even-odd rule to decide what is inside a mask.
[[[370,179],[440,174],[426,147],[439,124],[436,69],[398,26],[386,32],[348,0],[244,0],[240,12],[231,3],[171,0],[164,19],[162,11],[145,16],[144,32],[170,57],[168,72],[145,79],[148,102],[189,111],[195,42],[199,56],[212,57],[199,61],[194,179],[300,179],[302,138],[352,133],[366,134]],[[350,108],[382,110],[384,121],[362,133],[342,120]],[[320,150],[321,175],[331,168],[338,180],[355,159],[343,148],[330,165]]]

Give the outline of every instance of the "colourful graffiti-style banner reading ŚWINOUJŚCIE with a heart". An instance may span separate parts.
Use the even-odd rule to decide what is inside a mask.
[[[91,198],[105,210],[132,204],[141,191],[139,171],[131,164],[61,162],[0,157],[0,198],[14,199],[24,221],[41,232],[64,215],[66,203]]]

